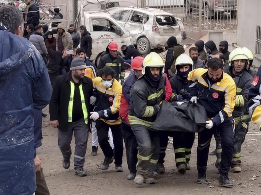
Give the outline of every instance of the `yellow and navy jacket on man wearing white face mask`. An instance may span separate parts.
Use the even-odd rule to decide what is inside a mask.
[[[121,84],[114,78],[112,86],[106,88],[102,84],[101,77],[92,79],[92,82],[93,96],[97,98],[94,111],[99,113],[99,120],[107,124],[121,124],[119,117]]]

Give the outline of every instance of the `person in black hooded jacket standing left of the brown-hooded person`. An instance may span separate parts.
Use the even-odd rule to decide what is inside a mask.
[[[164,68],[164,72],[169,75],[168,71],[170,69],[170,67],[172,66],[173,62],[174,62],[174,46],[179,45],[177,43],[177,39],[175,36],[171,36],[169,37],[169,39],[167,40],[167,45],[168,45],[168,51],[166,54],[166,61],[165,61],[165,68]]]

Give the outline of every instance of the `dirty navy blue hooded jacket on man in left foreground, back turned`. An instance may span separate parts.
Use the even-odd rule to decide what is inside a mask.
[[[0,51],[1,194],[32,195],[33,109],[49,103],[52,87],[43,58],[27,39],[0,30]]]

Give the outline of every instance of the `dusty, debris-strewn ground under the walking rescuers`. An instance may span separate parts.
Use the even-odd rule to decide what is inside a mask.
[[[44,113],[48,113],[48,108]],[[197,184],[196,167],[196,145],[195,140],[192,156],[191,170],[186,174],[179,174],[174,166],[174,150],[171,144],[166,151],[166,173],[156,177],[155,185],[137,185],[133,180],[127,180],[128,174],[126,154],[124,149],[122,173],[114,172],[114,164],[111,164],[106,171],[98,167],[103,161],[103,153],[99,147],[98,155],[91,156],[91,135],[89,136],[86,162],[84,168],[88,171],[87,177],[74,175],[73,165],[68,170],[62,166],[62,155],[57,146],[57,131],[49,125],[49,116],[43,118],[43,145],[37,149],[37,154],[42,161],[47,184],[52,195],[70,194],[261,194],[261,157],[260,144],[261,134],[258,128],[251,124],[249,134],[242,146],[242,172],[240,174],[229,173],[234,182],[233,188],[223,188],[218,185],[217,169],[214,166],[215,156],[209,156],[207,178],[209,184]],[[215,142],[211,142],[211,151]],[[72,141],[74,151],[74,141]]]

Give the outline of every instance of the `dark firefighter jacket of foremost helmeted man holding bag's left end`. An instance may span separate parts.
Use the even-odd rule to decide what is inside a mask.
[[[165,100],[166,76],[162,75],[158,87],[151,86],[142,76],[134,83],[130,93],[130,125],[143,125],[153,129],[153,122],[159,111],[159,104]]]

